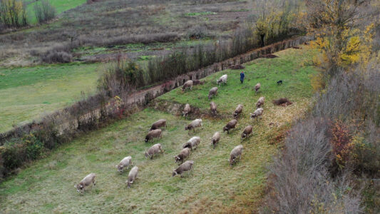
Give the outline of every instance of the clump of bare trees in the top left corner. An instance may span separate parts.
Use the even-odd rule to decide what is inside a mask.
[[[1,25],[6,28],[27,26],[25,6],[22,1],[0,1],[0,29]]]

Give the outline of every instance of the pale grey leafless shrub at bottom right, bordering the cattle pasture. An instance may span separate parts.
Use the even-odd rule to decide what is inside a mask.
[[[263,213],[358,213],[359,196],[344,176],[332,180],[329,123],[307,118],[294,125],[270,166]],[[346,174],[344,174],[346,175]]]

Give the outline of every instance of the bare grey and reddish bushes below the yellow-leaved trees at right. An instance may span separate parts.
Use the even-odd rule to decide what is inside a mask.
[[[379,78],[378,66],[332,78],[269,168],[266,213],[361,212],[349,177],[379,176]]]

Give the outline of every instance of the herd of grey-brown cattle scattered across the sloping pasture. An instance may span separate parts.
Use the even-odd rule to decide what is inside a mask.
[[[217,84],[219,84],[219,86],[222,83],[227,84],[227,74],[225,74],[225,75],[223,75],[217,79]],[[186,89],[192,90],[192,85],[193,85],[193,81],[191,81],[191,80],[186,81],[183,84],[182,90],[183,91],[185,91]],[[257,83],[255,86],[255,93],[257,93],[257,91],[259,91],[260,87],[261,87],[261,84]],[[213,96],[216,96],[216,95],[217,95],[217,87],[211,88],[209,91],[208,98],[211,99]],[[262,113],[264,110],[261,107],[264,105],[264,102],[265,102],[265,98],[260,97],[256,103],[257,109],[253,113],[250,113],[251,119],[259,118],[262,116]],[[242,113],[242,110],[243,110],[243,106],[241,104],[239,104],[237,106],[237,108],[235,109],[235,111],[232,113],[233,119],[231,121],[229,121],[223,127],[223,132],[227,131],[227,134],[228,134],[228,133],[230,133],[230,130],[232,128],[236,128],[237,118]],[[187,118],[187,116],[190,112],[191,112],[191,108],[190,108],[190,105],[187,103],[185,105],[185,108],[183,109],[183,116]],[[217,104],[214,103],[213,101],[210,102],[210,112],[212,113],[212,115],[215,115],[217,113]],[[153,142],[154,138],[161,138],[162,137],[162,130],[160,128],[163,128],[163,127],[165,127],[165,128],[167,127],[165,119],[160,119],[160,120],[156,121],[155,123],[153,123],[152,126],[150,127],[150,131],[145,136],[145,143],[148,143],[148,141]],[[187,126],[185,126],[185,130],[188,130],[189,134],[190,134],[190,131],[193,131],[193,133],[195,133],[195,128],[202,128],[203,129],[201,118],[197,118],[194,121],[191,121]],[[252,136],[252,134],[253,134],[253,127],[251,125],[246,126],[242,132],[241,138],[242,139],[247,138],[250,135]],[[217,146],[217,143],[220,141],[220,132],[218,132],[218,131],[215,132],[211,138],[211,141],[212,141],[211,142],[212,147],[215,148]],[[194,161],[190,161],[190,160],[185,161],[185,160],[189,158],[192,150],[196,149],[197,146],[199,146],[199,144],[200,144],[200,137],[199,136],[194,136],[194,137],[190,138],[190,140],[188,142],[183,144],[183,149],[180,151],[178,156],[174,156],[175,163],[179,163],[180,165],[178,166],[178,168],[175,168],[175,170],[173,170],[172,176],[180,175],[182,178],[182,176],[183,176],[182,174],[184,172],[192,170]],[[232,149],[232,151],[230,153],[230,158],[228,159],[230,162],[230,165],[233,165],[237,161],[237,158],[239,158],[239,160],[240,160],[240,158],[242,157],[242,150],[243,150],[242,145],[235,146],[235,148]],[[145,151],[145,158],[153,159],[153,156],[157,155],[158,153],[164,153],[164,152],[165,151],[163,150],[161,144],[157,143],[157,144],[151,146],[150,148],[148,148],[147,151]],[[115,168],[117,168],[118,172],[121,174],[121,173],[123,173],[123,170],[125,168],[128,169],[131,165],[132,165],[132,157],[128,156],[128,157],[123,158],[123,160],[121,160],[120,163],[118,163],[118,165],[115,165]],[[130,188],[130,185],[137,178],[137,175],[138,175],[138,166],[134,166],[128,174],[128,179],[125,181],[128,188]],[[88,187],[89,185],[91,185],[91,183],[93,183],[93,185],[96,185],[95,178],[96,178],[96,174],[91,173],[91,174],[87,175],[85,178],[83,178],[83,180],[81,180],[80,183],[76,184],[75,188],[78,190],[78,192],[83,193],[85,188]]]

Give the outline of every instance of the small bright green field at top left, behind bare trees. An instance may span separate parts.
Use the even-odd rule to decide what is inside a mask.
[[[56,14],[61,14],[64,11],[69,9],[73,9],[76,6],[86,3],[86,0],[49,0],[50,4],[56,9]],[[34,14],[34,4],[38,1],[28,0],[27,3],[33,2],[26,6],[26,14],[28,16],[28,20],[30,24],[36,24],[37,19]]]

